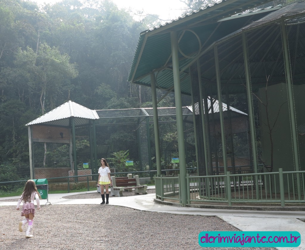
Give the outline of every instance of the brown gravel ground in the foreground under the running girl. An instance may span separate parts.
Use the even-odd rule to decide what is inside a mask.
[[[98,198],[100,194],[78,194],[69,197],[70,199]],[[115,197],[109,198],[110,204],[111,199]],[[33,224],[34,237],[26,239],[25,233],[18,231],[20,211],[12,206],[1,207],[0,249],[2,250],[242,249],[199,246],[198,234],[201,231],[239,231],[218,217],[147,212],[112,205],[47,205],[36,210]]]

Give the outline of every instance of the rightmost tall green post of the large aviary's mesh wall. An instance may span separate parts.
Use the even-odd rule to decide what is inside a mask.
[[[297,140],[297,132],[296,132],[296,115],[294,108],[294,100],[293,100],[293,86],[292,86],[292,76],[289,62],[289,48],[288,48],[288,38],[287,31],[285,26],[285,18],[282,17],[281,20],[282,27],[282,40],[283,40],[283,52],[284,52],[284,61],[285,61],[285,71],[286,71],[286,81],[287,81],[287,94],[288,94],[288,107],[290,114],[290,125],[291,125],[291,134],[292,134],[292,153],[294,159],[295,171],[300,171],[300,162],[299,162],[299,150],[298,150],[298,140]],[[301,181],[300,175],[296,175],[296,186],[298,192],[298,199],[301,199]]]

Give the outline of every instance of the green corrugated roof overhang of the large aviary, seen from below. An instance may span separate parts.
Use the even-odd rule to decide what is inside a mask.
[[[256,6],[270,1],[262,0],[223,0],[212,6],[206,6],[193,11],[169,23],[145,30],[140,33],[138,46],[131,65],[128,81],[140,85],[150,85],[150,74],[162,69],[171,69],[171,44],[170,31],[192,30],[199,37],[204,51],[213,42],[221,39],[227,34],[246,26],[250,22],[262,18],[268,12],[276,9],[260,9],[257,12],[246,12]],[[230,18],[233,15],[234,18]],[[228,18],[228,19],[225,19]],[[187,34],[179,41],[179,49],[184,54],[194,56],[199,50],[199,43],[194,34]],[[179,51],[180,70],[188,68],[194,58],[185,58]],[[182,73],[184,74],[184,73]],[[156,78],[157,87],[170,89],[173,86],[172,72],[167,70]],[[181,75],[181,93],[190,94],[190,79],[188,72]]]

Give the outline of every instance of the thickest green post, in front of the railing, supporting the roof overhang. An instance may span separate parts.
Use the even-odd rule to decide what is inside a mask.
[[[170,32],[170,41],[171,41],[171,51],[172,51],[176,116],[177,116],[179,166],[180,166],[180,179],[181,179],[180,180],[181,203],[186,204],[187,203],[187,190],[186,190],[186,178],[185,178],[186,177],[185,143],[184,143],[184,132],[183,132],[181,85],[180,85],[180,71],[179,71],[179,57],[178,57],[178,39],[177,39],[176,31]]]

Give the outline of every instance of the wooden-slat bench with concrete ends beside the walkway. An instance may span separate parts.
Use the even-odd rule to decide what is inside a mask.
[[[147,185],[140,185],[140,179],[138,175],[135,175],[134,178],[131,177],[131,174],[127,174],[127,177],[111,176],[111,181],[112,187],[110,192],[112,196],[124,196],[124,190],[132,191],[132,189],[135,189],[135,194],[147,194]]]

